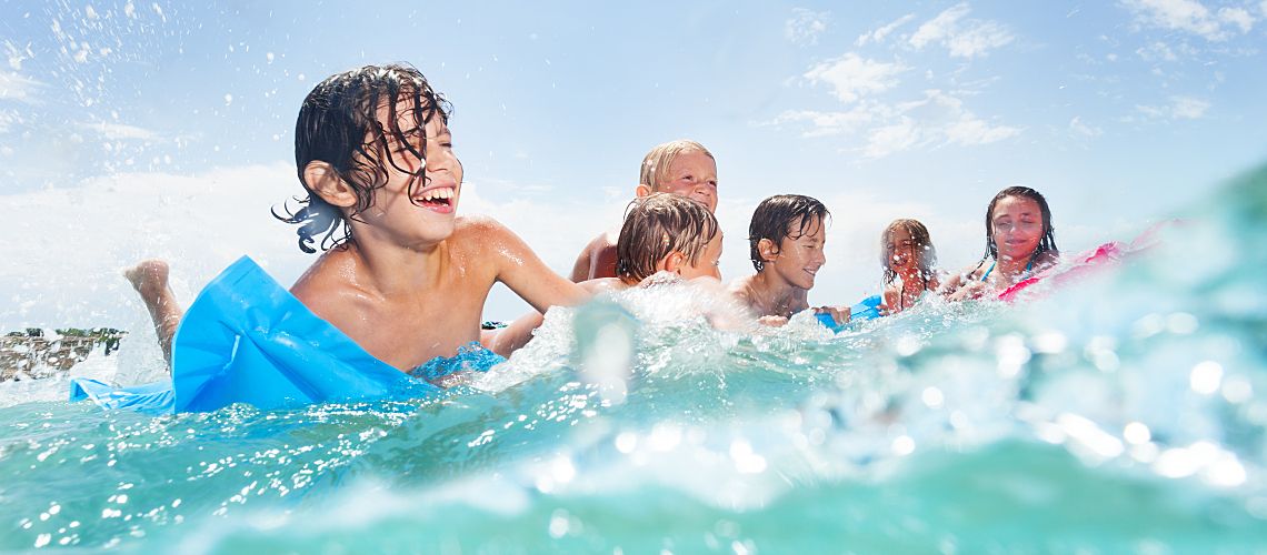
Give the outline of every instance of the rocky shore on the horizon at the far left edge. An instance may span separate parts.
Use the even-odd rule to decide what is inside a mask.
[[[99,345],[110,355],[127,331],[105,329],[41,329],[10,331],[0,338],[0,382],[44,378],[71,369]]]

